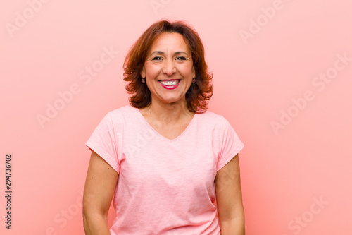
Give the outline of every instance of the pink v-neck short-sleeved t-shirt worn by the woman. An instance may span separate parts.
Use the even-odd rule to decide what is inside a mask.
[[[130,105],[108,112],[86,143],[118,172],[112,235],[218,235],[216,172],[244,147],[230,123],[195,114],[173,140]]]

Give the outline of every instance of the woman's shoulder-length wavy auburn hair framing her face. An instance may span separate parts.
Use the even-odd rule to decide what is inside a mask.
[[[162,32],[177,32],[184,37],[191,53],[193,66],[196,72],[196,83],[192,83],[186,92],[186,101],[189,111],[203,113],[208,109],[208,100],[213,96],[213,73],[208,72],[208,66],[204,58],[204,46],[201,38],[194,28],[181,20],[171,23],[168,20],[160,20],[153,23],[128,52],[123,64],[123,80],[129,82],[126,90],[133,94],[129,98],[130,104],[136,108],[144,108],[151,104],[151,92],[146,84],[142,83],[141,71],[146,60],[147,53],[156,38]]]

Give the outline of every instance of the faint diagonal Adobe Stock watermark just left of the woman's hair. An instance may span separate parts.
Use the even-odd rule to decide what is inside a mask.
[[[111,63],[119,53],[120,52],[115,51],[112,46],[109,48],[103,47],[103,52],[99,59],[93,61],[91,66],[85,66],[84,69],[78,72],[78,79],[82,80],[84,85],[89,85],[89,83],[92,83],[92,78],[96,77],[106,64]],[[81,91],[82,86],[78,83],[71,84],[67,90],[58,91],[58,98],[51,103],[46,103],[45,114],[37,114],[36,117],[39,125],[44,128],[44,124],[58,116],[58,113],[65,109],[66,105],[72,102],[75,95],[80,94]]]

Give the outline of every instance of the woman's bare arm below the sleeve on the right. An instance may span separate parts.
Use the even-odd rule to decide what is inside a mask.
[[[244,235],[244,208],[238,155],[216,174],[215,192],[221,235]]]

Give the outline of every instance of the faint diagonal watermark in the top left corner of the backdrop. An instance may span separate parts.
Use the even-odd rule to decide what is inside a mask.
[[[28,0],[28,6],[23,11],[15,12],[15,19],[13,20],[13,23],[5,23],[5,28],[8,35],[10,35],[10,37],[14,37],[13,33],[24,28],[28,21],[32,20],[35,14],[37,14],[42,9],[44,4],[47,4],[49,1],[50,0]]]

